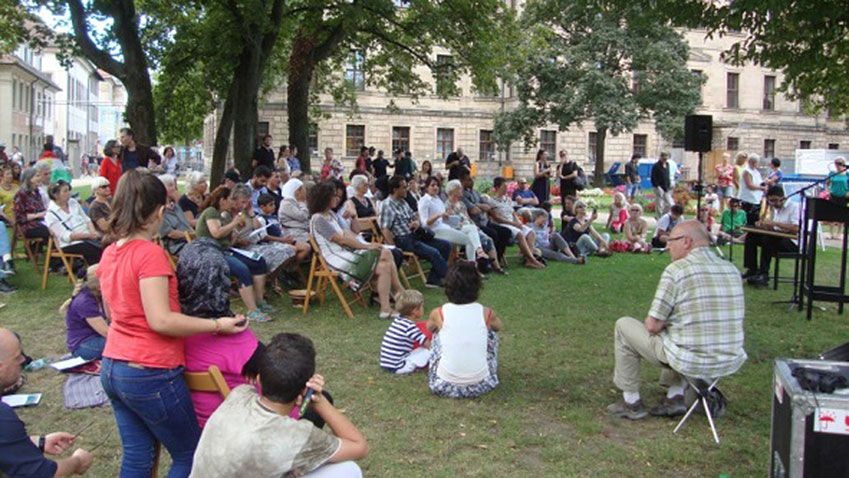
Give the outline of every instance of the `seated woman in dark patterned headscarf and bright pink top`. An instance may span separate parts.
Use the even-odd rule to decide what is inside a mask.
[[[230,267],[214,240],[201,237],[186,245],[177,262],[180,311],[204,319],[232,316],[229,276]],[[233,389],[256,379],[261,347],[251,329],[233,335],[191,335],[185,339],[186,371],[206,372],[215,365]],[[218,392],[192,391],[191,395],[203,428],[224,399]]]

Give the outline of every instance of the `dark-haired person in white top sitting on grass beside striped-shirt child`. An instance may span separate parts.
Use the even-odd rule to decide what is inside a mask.
[[[458,262],[445,276],[449,302],[427,321],[433,332],[428,386],[436,395],[474,398],[498,385],[501,321],[477,303],[481,278],[471,262]]]

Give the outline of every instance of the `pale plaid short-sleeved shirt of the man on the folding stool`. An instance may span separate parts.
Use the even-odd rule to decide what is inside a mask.
[[[698,247],[666,267],[649,315],[666,322],[661,332],[669,365],[688,377],[736,372],[743,350],[743,282],[730,262]]]

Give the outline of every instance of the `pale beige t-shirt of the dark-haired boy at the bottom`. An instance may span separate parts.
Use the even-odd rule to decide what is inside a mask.
[[[241,385],[206,422],[190,476],[297,476],[323,465],[341,445],[310,421],[265,408],[253,386]]]

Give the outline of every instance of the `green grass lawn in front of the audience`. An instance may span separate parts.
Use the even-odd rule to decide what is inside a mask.
[[[818,275],[836,277],[838,251],[819,257]],[[742,259],[742,248],[735,258]],[[613,324],[623,315],[645,316],[668,261],[665,254],[618,254],[583,267],[553,264],[533,271],[514,260],[508,277],[485,283],[480,300],[501,317],[504,330],[501,384],[476,400],[436,398],[424,373],[396,377],[379,369],[388,323],[377,319],[376,308],[355,308],[357,316],[350,320],[330,298],[303,317],[288,299],[275,298],[275,320],[253,329],[266,340],[283,331],[313,339],[318,370],[338,407],[369,439],[370,455],[361,463],[367,476],[762,476],[769,463],[773,360],[812,357],[838,345],[849,336],[849,323],[831,304],[828,312],[815,311],[811,322],[786,305],[772,305],[789,297],[788,285],[778,291],[747,288],[749,360],[720,382],[729,399],[727,414],[717,422],[721,446],[714,444],[702,416],[677,436],[670,420],[609,418],[604,407],[620,396],[612,384]],[[12,282],[20,290],[0,297],[6,302],[0,324],[21,333],[33,357],[60,356],[65,333],[57,309],[71,287],[63,277],[51,276],[42,292],[30,264],[17,264]],[[788,271],[790,264],[782,268]],[[428,309],[444,301],[439,290],[425,290],[425,297]],[[44,393],[41,405],[18,409],[29,432],[74,433],[96,420],[79,445],[91,447],[111,435],[95,451],[88,476],[116,476],[121,445],[109,407],[68,411],[59,373],[44,369],[28,375],[23,391]],[[642,392],[649,405],[663,394],[657,377],[658,369],[643,368]]]

